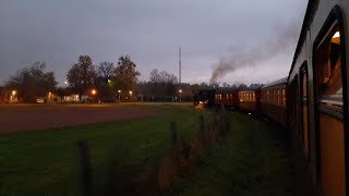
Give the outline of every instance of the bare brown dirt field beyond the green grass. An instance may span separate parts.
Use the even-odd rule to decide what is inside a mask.
[[[35,131],[156,115],[158,111],[115,105],[17,105],[0,107],[0,133]]]

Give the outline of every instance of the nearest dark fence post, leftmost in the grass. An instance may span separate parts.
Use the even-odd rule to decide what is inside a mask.
[[[92,196],[92,171],[86,140],[79,142],[81,187],[83,196]]]

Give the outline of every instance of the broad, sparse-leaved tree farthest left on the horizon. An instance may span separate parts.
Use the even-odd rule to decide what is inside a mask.
[[[35,102],[36,97],[46,97],[58,84],[53,72],[45,72],[45,62],[36,62],[29,68],[19,70],[10,76],[5,86],[15,89],[24,102]]]

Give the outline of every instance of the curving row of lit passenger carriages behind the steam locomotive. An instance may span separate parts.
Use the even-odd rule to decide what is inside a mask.
[[[213,105],[265,114],[286,127],[299,171],[322,196],[349,195],[348,36],[348,0],[311,0],[287,77],[214,91]]]

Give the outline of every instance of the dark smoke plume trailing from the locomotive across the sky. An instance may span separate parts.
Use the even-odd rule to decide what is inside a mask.
[[[217,84],[219,78],[240,68],[254,66],[260,62],[268,61],[280,53],[287,52],[291,46],[297,44],[299,27],[296,22],[292,22],[288,26],[277,26],[273,34],[262,45],[250,48],[246,46],[233,47],[229,57],[221,58],[213,65],[214,71],[209,82]]]

